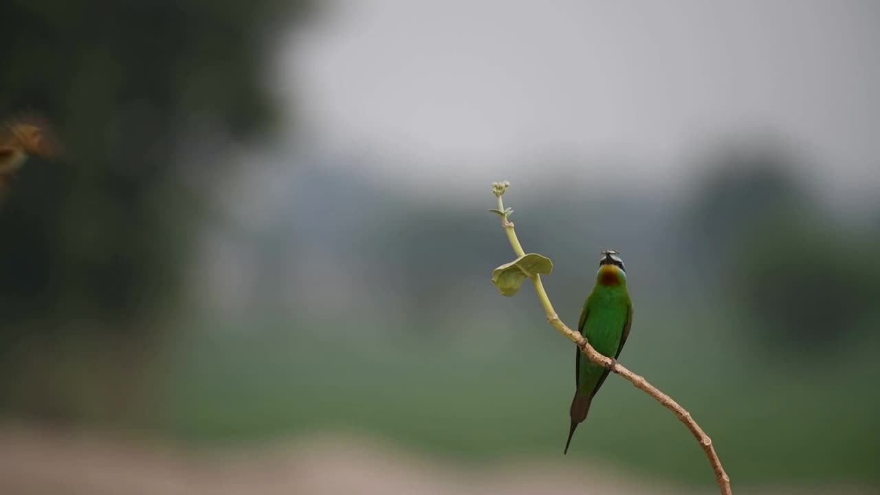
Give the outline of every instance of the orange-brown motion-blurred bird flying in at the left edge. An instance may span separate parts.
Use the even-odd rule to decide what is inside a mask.
[[[0,127],[0,196],[29,155],[54,158],[58,146],[48,137],[48,125],[36,117],[12,118]]]

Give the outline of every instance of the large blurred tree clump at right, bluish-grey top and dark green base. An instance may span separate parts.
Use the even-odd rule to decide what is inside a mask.
[[[722,147],[707,160],[712,172],[682,236],[700,267],[693,271],[771,353],[844,343],[873,317],[880,275],[867,236],[835,226],[792,173],[797,161],[773,143]]]

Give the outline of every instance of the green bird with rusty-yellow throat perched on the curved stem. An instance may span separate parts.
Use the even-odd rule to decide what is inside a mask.
[[[587,342],[600,354],[616,360],[620,356],[623,344],[627,343],[629,328],[633,324],[633,302],[627,292],[627,270],[617,251],[602,251],[599,259],[599,270],[596,274],[596,285],[590,297],[583,303],[581,321],[577,329]],[[575,358],[575,398],[571,401],[571,428],[568,430],[568,441],[565,451],[575,429],[587,417],[593,397],[605,383],[610,370],[590,361],[576,349]]]

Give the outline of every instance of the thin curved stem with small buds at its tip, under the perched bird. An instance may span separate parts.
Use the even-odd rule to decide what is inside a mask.
[[[522,245],[519,244],[519,240],[517,240],[517,233],[513,230],[514,225],[510,222],[510,213],[513,211],[504,209],[504,204],[502,203],[501,198],[504,191],[509,186],[510,182],[495,182],[495,184],[492,185],[492,191],[495,193],[495,196],[498,197],[498,210],[493,211],[498,212],[502,216],[502,227],[504,232],[507,233],[508,240],[510,240],[510,246],[513,247],[513,251],[517,254],[517,257],[522,257],[525,255],[525,252]],[[675,413],[678,420],[687,426],[687,429],[690,430],[697,441],[700,442],[700,447],[706,452],[709,464],[712,465],[712,470],[715,471],[715,482],[721,489],[722,495],[732,495],[733,491],[730,489],[730,477],[724,472],[721,460],[718,458],[718,454],[715,453],[715,447],[712,446],[712,439],[710,439],[706,432],[700,428],[700,425],[693,420],[691,413],[687,412],[685,408],[672,400],[672,397],[664,394],[651,385],[648,380],[644,379],[644,377],[629,371],[617,361],[607,358],[593,349],[590,343],[587,342],[587,339],[584,338],[580,332],[569,329],[568,326],[560,320],[559,315],[556,314],[553,305],[550,303],[550,298],[547,297],[547,293],[544,290],[544,284],[541,283],[541,276],[534,273],[529,275],[529,278],[532,280],[532,284],[535,285],[535,292],[538,292],[538,299],[541,301],[541,306],[544,307],[547,322],[549,322],[554,329],[559,330],[559,332],[563,336],[566,336],[568,340],[574,342],[577,345],[577,348],[580,349],[587,358],[590,358],[590,361],[605,366],[605,368],[619,374],[632,383],[635,388],[643,390],[648,395],[654,397],[658,403],[663,404],[666,409]]]

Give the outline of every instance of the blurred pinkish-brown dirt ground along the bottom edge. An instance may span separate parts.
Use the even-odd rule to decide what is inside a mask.
[[[841,488],[747,492],[868,493]],[[488,470],[465,469],[351,438],[325,437],[292,447],[200,454],[106,434],[0,425],[0,494],[196,493],[696,495],[627,479],[608,469],[573,470],[549,462],[507,462]]]

